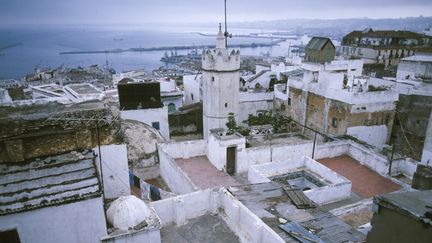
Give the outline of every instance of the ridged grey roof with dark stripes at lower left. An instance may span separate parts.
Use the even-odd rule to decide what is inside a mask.
[[[0,215],[99,197],[90,151],[0,164]]]

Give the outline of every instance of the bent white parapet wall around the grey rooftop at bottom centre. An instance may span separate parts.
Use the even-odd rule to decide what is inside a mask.
[[[162,226],[182,225],[189,219],[218,213],[240,242],[284,242],[267,224],[252,213],[226,189],[206,189],[168,198],[150,205]]]

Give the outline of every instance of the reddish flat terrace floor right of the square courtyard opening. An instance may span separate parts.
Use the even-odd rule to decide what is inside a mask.
[[[369,198],[401,189],[400,185],[347,155],[317,161],[350,180],[351,190],[361,197]]]

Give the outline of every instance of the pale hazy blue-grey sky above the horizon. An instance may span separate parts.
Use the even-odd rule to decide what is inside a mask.
[[[432,0],[228,0],[231,21],[432,15]],[[219,22],[223,0],[0,0],[0,24]]]

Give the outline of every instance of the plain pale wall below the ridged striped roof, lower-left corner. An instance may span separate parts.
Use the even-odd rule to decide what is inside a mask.
[[[23,243],[99,243],[107,233],[102,198],[0,217],[0,231],[14,228]]]

